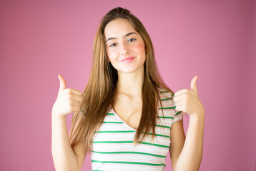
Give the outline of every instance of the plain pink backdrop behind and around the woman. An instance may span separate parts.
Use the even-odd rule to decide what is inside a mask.
[[[200,170],[255,170],[256,4],[250,0],[1,1],[0,170],[54,170],[57,76],[84,90],[99,20],[116,6],[147,28],[159,71],[174,92],[199,76],[205,106]],[[169,156],[166,162],[172,170]],[[87,155],[83,170],[91,169]]]

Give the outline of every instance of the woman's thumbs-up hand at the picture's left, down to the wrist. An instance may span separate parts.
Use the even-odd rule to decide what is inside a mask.
[[[52,115],[65,116],[74,111],[80,110],[82,103],[82,93],[73,88],[67,88],[66,81],[63,76],[59,78],[59,93],[52,108]]]

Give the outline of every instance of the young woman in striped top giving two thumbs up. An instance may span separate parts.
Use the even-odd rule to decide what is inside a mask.
[[[81,170],[87,152],[92,170],[163,170],[168,151],[173,170],[199,170],[205,109],[197,76],[191,89],[173,93],[159,75],[147,31],[127,9],[112,9],[102,19],[84,92],[67,88],[61,75],[59,81],[52,108],[56,170]]]

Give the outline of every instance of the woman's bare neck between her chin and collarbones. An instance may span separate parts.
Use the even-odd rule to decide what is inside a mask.
[[[142,94],[144,83],[144,67],[133,73],[118,72],[117,92],[135,97]]]

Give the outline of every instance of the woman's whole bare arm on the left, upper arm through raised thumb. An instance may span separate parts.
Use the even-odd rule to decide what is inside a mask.
[[[51,152],[56,170],[81,170],[86,156],[84,140],[74,147],[69,142],[67,114],[79,110],[81,92],[66,87],[63,76],[59,75],[59,94],[51,112]]]

